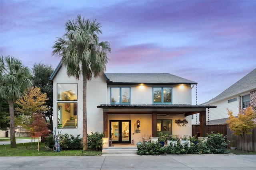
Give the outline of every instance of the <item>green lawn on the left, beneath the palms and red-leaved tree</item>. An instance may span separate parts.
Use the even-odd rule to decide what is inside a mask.
[[[30,138],[31,139],[31,138]],[[17,148],[11,148],[10,145],[0,145],[0,156],[100,156],[101,151],[94,150],[61,150],[55,152],[52,149],[47,149],[44,143],[40,142],[38,152],[38,142],[19,143]]]

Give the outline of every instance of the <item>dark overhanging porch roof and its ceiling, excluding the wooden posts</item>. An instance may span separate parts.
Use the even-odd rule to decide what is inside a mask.
[[[198,106],[198,105],[100,105],[97,108],[102,108],[104,112],[108,113],[122,113],[122,114],[149,114],[156,112],[157,114],[185,114],[185,116],[193,115],[201,111],[206,111],[208,108],[216,108],[217,106]]]

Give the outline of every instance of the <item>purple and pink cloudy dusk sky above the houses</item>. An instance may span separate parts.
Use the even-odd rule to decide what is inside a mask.
[[[52,45],[78,14],[102,25],[107,73],[187,78],[198,104],[256,68],[256,0],[0,0],[0,55],[56,68]]]

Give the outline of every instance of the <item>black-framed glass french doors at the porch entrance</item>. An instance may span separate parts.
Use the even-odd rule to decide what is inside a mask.
[[[131,143],[130,120],[110,120],[109,124],[112,143]]]

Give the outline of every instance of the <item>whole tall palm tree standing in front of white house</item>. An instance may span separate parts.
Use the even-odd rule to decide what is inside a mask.
[[[108,63],[107,54],[111,52],[107,41],[98,42],[98,35],[102,33],[100,27],[96,20],[85,20],[78,15],[75,20],[66,21],[66,33],[55,41],[52,51],[52,55],[61,58],[68,76],[79,79],[82,74],[83,77],[83,150],[87,149],[87,80],[91,80],[92,75],[98,77],[104,74]]]

